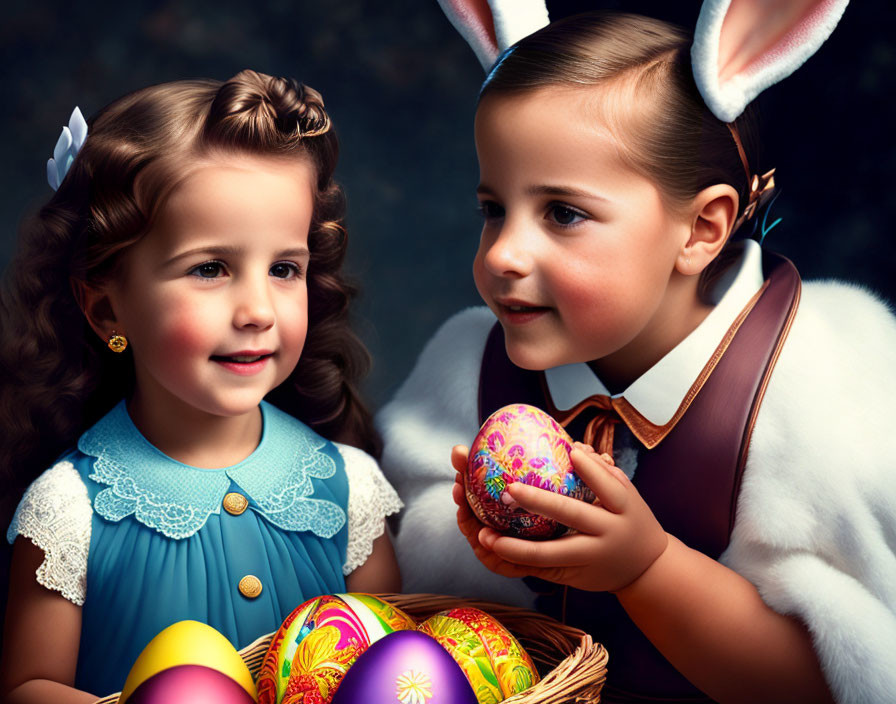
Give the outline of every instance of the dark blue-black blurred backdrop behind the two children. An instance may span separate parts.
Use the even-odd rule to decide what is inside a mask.
[[[0,267],[50,194],[45,163],[69,113],[151,83],[243,68],[320,90],[342,143],[356,319],[381,405],[421,346],[478,302],[473,104],[483,72],[436,0],[14,0],[0,27]],[[696,0],[549,2],[553,19],[612,7],[693,27]],[[857,281],[896,301],[896,10],[856,0],[820,52],[760,99],[782,217],[766,245],[804,278]]]

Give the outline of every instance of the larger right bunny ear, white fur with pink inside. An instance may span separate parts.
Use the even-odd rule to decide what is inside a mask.
[[[848,0],[705,0],[694,30],[694,80],[713,114],[733,122],[834,31]]]

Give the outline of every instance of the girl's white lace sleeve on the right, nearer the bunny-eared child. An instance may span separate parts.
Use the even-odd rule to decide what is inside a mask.
[[[370,557],[386,516],[400,511],[403,504],[373,457],[351,445],[336,446],[348,475],[348,549],[342,573],[349,575]]]

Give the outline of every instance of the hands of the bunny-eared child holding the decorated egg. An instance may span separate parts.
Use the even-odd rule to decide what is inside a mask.
[[[466,460],[461,449],[465,448],[452,453],[458,471],[463,468],[458,460]],[[458,525],[477,557],[499,574],[532,575],[589,591],[618,591],[665,551],[668,536],[622,471],[581,443],[576,443],[570,458],[597,497],[595,504],[520,482],[508,485],[506,491],[520,507],[560,521],[577,533],[543,542],[500,535],[479,523],[465,507],[462,482],[454,489],[460,506]]]

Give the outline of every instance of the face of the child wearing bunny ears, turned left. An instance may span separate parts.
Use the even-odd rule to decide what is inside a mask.
[[[621,157],[595,93],[493,93],[476,113],[485,223],[473,273],[527,369],[648,364],[674,346],[664,321],[683,300],[675,265],[690,224]]]

